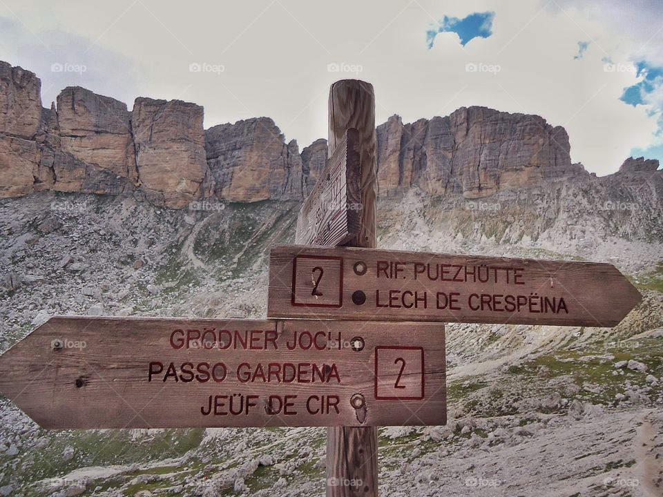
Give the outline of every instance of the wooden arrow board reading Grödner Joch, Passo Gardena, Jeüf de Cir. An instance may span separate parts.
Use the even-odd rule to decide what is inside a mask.
[[[444,329],[56,316],[0,391],[45,428],[443,425]]]

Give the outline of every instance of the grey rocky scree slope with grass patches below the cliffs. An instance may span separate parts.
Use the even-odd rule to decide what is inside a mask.
[[[610,260],[644,295],[615,329],[450,325],[449,425],[381,429],[383,495],[660,490],[663,195],[649,170],[619,174],[633,188],[593,178],[379,201],[379,246]],[[267,251],[292,240],[300,202],[222,206],[53,191],[0,201],[1,348],[55,313],[264,318]],[[323,494],[323,429],[54,433],[0,405],[0,494]]]

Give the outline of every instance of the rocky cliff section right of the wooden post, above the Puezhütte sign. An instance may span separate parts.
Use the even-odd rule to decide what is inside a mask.
[[[475,199],[584,173],[570,162],[566,130],[538,116],[463,107],[412,124],[392,116],[377,135],[383,195],[419,186]]]

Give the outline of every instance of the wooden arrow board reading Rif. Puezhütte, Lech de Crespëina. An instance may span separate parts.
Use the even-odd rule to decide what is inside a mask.
[[[285,245],[267,315],[613,327],[641,299],[611,264]]]

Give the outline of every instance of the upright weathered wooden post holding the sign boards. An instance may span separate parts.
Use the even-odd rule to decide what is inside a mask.
[[[336,81],[329,90],[329,157],[348,128],[359,131],[361,146],[361,227],[356,240],[348,245],[374,249],[377,244],[375,95],[371,84],[358,79]],[[378,495],[377,440],[376,427],[327,428],[327,497]]]

